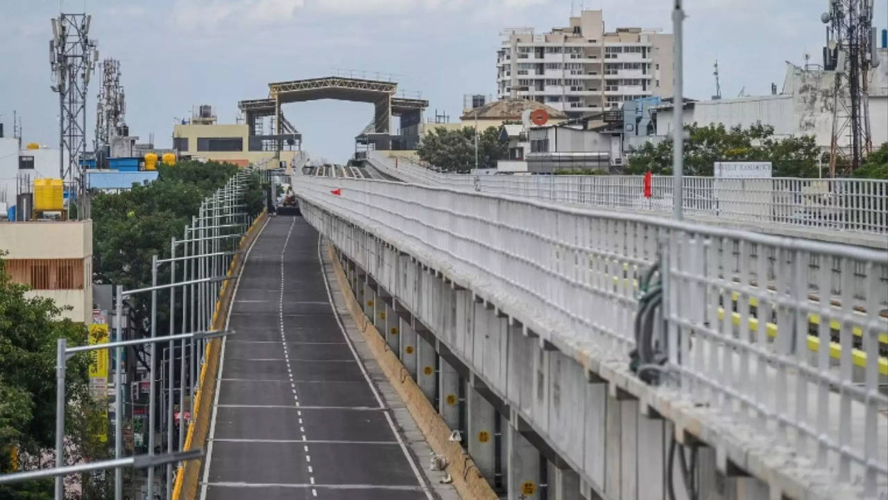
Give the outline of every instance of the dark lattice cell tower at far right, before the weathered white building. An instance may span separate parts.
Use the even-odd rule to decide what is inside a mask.
[[[839,160],[853,171],[872,150],[867,84],[869,69],[879,63],[873,0],[829,0],[829,12],[821,21],[827,25],[823,67],[833,70],[836,78],[829,146],[829,175],[835,177]]]

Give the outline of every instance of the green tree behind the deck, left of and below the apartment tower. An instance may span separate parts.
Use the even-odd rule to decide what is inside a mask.
[[[508,144],[500,140],[500,127],[490,126],[478,134],[480,168],[496,168],[496,161],[507,153]],[[423,137],[416,154],[445,172],[468,173],[475,167],[475,129],[437,127]]]

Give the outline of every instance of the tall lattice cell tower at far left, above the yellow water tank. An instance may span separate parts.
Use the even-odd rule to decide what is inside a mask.
[[[50,40],[52,92],[59,93],[59,176],[76,184],[78,195],[83,194],[79,186],[80,159],[86,152],[86,89],[99,58],[96,42],[89,38],[90,21],[85,13],[60,13],[52,19]]]

